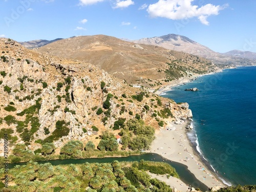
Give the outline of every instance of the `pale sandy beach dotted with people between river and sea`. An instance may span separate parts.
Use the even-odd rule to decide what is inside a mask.
[[[225,187],[226,185],[216,176],[215,173],[211,172],[206,167],[198,153],[194,151],[186,135],[186,124],[187,123],[174,125],[175,130],[172,131],[167,129],[161,129],[158,131],[156,133],[156,139],[152,143],[151,150],[147,152],[157,153],[168,160],[186,165],[190,172],[209,188],[214,186]],[[172,127],[170,125],[167,126]],[[165,181],[167,178],[165,179],[165,177],[160,176],[158,179],[164,179]],[[178,180],[178,182],[176,180]],[[186,191],[188,188],[186,184],[177,178],[169,178],[166,181],[171,187],[175,187],[180,191]]]

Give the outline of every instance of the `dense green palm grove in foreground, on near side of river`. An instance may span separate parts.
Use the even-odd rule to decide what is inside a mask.
[[[8,188],[4,185],[5,169],[0,169],[2,191],[155,191],[172,192],[172,189],[158,179],[152,179],[146,172],[179,177],[176,170],[167,163],[118,162],[83,163],[53,166],[30,161],[16,165],[9,170]]]

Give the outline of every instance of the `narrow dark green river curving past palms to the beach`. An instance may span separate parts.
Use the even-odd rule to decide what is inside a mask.
[[[140,161],[141,159],[144,159],[145,161],[164,161],[168,163],[169,165],[173,166],[177,173],[180,176],[180,179],[188,184],[191,187],[194,188],[200,188],[202,191],[208,190],[208,187],[203,184],[201,181],[199,181],[194,174],[192,174],[188,169],[186,165],[183,165],[178,162],[170,161],[167,159],[164,159],[162,156],[155,154],[155,153],[146,153],[142,155],[134,155],[134,156],[128,156],[128,157],[105,157],[105,158],[89,158],[89,159],[64,159],[64,160],[49,160],[49,161],[39,161],[39,164],[42,163],[51,163],[52,165],[65,165],[65,164],[82,164],[82,163],[111,163],[114,160],[117,160],[119,162],[121,161]],[[23,163],[9,163],[9,168],[13,168],[16,165],[24,165],[26,162]]]

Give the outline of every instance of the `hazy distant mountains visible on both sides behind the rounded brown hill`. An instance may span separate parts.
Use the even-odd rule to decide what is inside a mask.
[[[28,49],[39,48],[48,45],[52,42],[61,40],[57,38],[54,40],[32,40],[20,42],[21,45]],[[236,66],[251,66],[256,65],[256,53],[249,51],[232,50],[227,53],[218,53],[212,51],[206,46],[189,39],[188,37],[168,34],[160,37],[142,38],[138,40],[122,39],[125,41],[134,42],[136,44],[146,44],[163,47],[169,50],[181,51],[200,57],[207,58],[217,65],[236,65]]]

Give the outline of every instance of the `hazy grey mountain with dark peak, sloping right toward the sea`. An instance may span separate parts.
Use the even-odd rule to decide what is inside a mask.
[[[188,37],[176,34],[168,34],[160,37],[142,38],[133,40],[137,44],[161,46],[166,49],[182,51],[185,53],[198,55],[211,60],[217,65],[256,65],[256,60],[251,57],[237,57],[212,51],[198,42]]]

